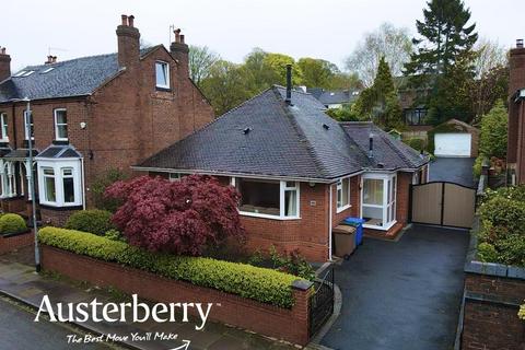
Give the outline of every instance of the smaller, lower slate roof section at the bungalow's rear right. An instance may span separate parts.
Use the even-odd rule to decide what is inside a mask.
[[[349,121],[340,125],[365,152],[369,152],[370,135],[373,135],[373,159],[371,161],[374,163],[374,168],[418,168],[429,162],[428,156],[421,156],[418,151],[396,140],[372,122]]]

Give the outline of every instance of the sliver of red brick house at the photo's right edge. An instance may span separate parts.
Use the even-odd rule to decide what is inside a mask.
[[[525,184],[525,48],[523,39],[509,56],[509,184]]]

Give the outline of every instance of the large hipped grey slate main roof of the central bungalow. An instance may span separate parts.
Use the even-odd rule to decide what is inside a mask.
[[[349,137],[353,128],[328,117],[311,94],[292,91],[291,106],[284,98],[284,88],[270,88],[136,167],[319,180],[376,167]]]

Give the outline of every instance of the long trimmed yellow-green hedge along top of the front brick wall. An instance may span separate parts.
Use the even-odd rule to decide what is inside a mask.
[[[38,241],[75,254],[287,308],[293,305],[292,282],[299,279],[292,275],[244,264],[150,253],[124,242],[51,226],[39,231]]]

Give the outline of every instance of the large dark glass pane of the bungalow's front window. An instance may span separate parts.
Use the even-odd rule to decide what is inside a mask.
[[[280,215],[279,182],[260,182],[237,177],[235,186],[241,194],[241,211]]]

